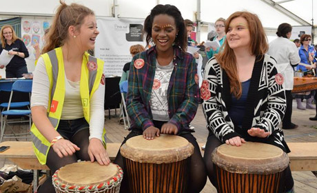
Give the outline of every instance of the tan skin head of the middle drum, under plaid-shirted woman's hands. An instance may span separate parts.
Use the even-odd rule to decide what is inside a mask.
[[[187,139],[172,134],[160,134],[152,140],[142,135],[134,136],[121,146],[123,157],[139,163],[173,163],[194,153],[194,146]]]

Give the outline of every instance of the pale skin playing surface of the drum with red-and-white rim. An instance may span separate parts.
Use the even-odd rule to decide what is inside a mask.
[[[118,167],[113,163],[99,165],[96,161],[83,161],[61,167],[57,176],[60,181],[72,185],[94,185],[108,181],[116,176],[118,171]]]

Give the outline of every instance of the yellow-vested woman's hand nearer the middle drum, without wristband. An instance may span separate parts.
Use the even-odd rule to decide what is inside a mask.
[[[90,156],[90,161],[94,162],[94,159],[100,165],[109,165],[110,159],[105,147],[103,147],[102,141],[100,139],[92,138],[90,139],[88,146],[88,154]]]

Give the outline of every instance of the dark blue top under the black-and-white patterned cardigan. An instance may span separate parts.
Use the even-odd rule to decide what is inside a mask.
[[[228,114],[234,125],[242,126],[243,117],[245,116],[245,103],[247,101],[247,92],[249,92],[250,79],[241,83],[242,95],[240,99],[232,94],[232,105]]]

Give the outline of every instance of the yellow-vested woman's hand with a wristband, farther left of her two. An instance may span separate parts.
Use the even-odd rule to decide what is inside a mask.
[[[80,150],[77,145],[67,139],[59,139],[52,145],[52,148],[60,158],[63,158],[63,156],[71,156],[74,152]]]

